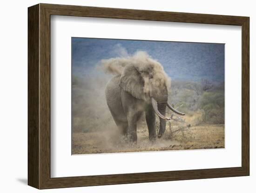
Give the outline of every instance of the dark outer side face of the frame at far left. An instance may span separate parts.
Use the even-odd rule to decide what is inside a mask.
[[[28,9],[28,180],[39,188],[39,5]]]

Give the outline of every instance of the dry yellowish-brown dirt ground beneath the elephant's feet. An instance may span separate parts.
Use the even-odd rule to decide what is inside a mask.
[[[167,125],[162,138],[149,142],[148,129],[141,126],[137,130],[137,144],[133,146],[128,145],[116,130],[73,132],[72,154],[224,148],[223,124],[172,126],[171,131]]]

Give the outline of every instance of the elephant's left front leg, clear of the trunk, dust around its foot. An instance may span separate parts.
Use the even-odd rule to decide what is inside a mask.
[[[137,116],[128,116],[128,141],[136,143],[137,142]]]

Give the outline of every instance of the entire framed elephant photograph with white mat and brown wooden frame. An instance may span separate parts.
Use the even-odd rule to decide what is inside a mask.
[[[249,17],[28,8],[28,185],[249,175]]]

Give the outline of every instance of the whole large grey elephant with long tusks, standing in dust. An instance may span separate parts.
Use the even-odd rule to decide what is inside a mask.
[[[162,137],[166,128],[166,107],[179,115],[185,115],[168,103],[168,76],[160,63],[153,59],[146,62],[125,64],[120,74],[112,77],[106,85],[108,108],[122,135],[128,142],[137,142],[137,122],[145,112],[149,141]],[[159,131],[156,134],[156,116]]]

